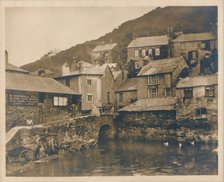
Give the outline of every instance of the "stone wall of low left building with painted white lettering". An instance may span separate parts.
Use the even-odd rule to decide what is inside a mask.
[[[21,94],[26,95],[27,92],[20,91]],[[33,125],[39,123],[47,123],[58,118],[65,119],[73,117],[72,104],[78,103],[78,98],[74,98],[69,95],[62,94],[45,94],[43,102],[40,102],[39,94],[37,92],[28,92],[28,96],[35,96],[37,99],[32,105],[25,105],[26,103],[13,105],[9,103],[8,94],[10,91],[6,92],[6,131],[14,126],[24,126],[27,125],[27,119],[33,121]],[[54,96],[64,96],[68,98],[68,106],[54,106],[53,97]],[[28,102],[28,101],[26,101]],[[79,110],[77,108],[77,110]]]

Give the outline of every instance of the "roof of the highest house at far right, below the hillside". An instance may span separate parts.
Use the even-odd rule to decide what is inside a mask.
[[[174,39],[173,42],[192,42],[202,40],[215,40],[215,36],[210,32],[182,34]]]

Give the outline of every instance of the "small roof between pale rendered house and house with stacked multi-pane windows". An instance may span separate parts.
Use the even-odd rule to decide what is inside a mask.
[[[116,92],[137,90],[138,78],[127,78],[116,90]]]

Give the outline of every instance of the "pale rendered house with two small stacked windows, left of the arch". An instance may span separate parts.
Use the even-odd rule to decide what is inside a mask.
[[[109,110],[114,103],[114,78],[107,64],[81,68],[55,78],[75,92],[82,93],[82,112],[89,114],[93,108]]]

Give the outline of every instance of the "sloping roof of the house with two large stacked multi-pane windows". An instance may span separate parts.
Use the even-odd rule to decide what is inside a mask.
[[[138,76],[149,76],[161,73],[172,73],[177,68],[185,68],[187,64],[183,57],[152,60],[144,66]]]

